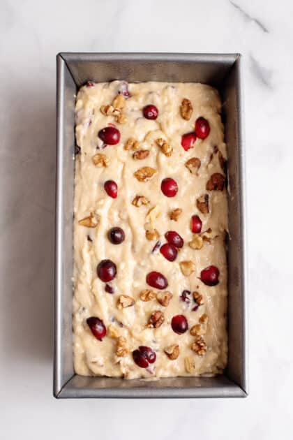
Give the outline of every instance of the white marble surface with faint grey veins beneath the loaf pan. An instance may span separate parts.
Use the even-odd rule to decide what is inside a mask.
[[[289,0],[1,0],[1,439],[292,439],[292,14]],[[59,51],[243,54],[247,399],[52,397]]]

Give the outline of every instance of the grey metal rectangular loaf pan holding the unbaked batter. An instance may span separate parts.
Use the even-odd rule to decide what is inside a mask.
[[[88,80],[104,82],[203,82],[223,99],[228,151],[229,230],[228,341],[225,374],[143,381],[78,376],[73,370],[73,189],[75,96]],[[57,186],[54,298],[54,396],[78,397],[246,397],[245,170],[239,54],[57,55]]]

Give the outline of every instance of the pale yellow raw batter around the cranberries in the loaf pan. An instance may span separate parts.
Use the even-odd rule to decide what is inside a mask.
[[[75,156],[75,372],[126,379],[219,374],[227,362],[227,191],[225,187],[216,190],[215,182],[210,181],[209,189],[206,184],[214,173],[224,175],[223,162],[227,158],[220,98],[215,89],[202,84],[146,82],[130,84],[128,89],[130,97],[116,100],[121,90],[119,81],[84,86],[77,94],[76,140],[80,154]],[[191,106],[186,106],[188,101],[182,106],[184,98]],[[142,114],[149,104],[158,108],[156,120]],[[210,133],[204,140],[197,138],[185,151],[181,136],[194,131],[198,117],[209,122]],[[103,141],[98,132],[108,124],[119,129],[121,138],[117,145],[100,148]],[[149,153],[135,155],[140,150]],[[192,158],[200,159],[200,168],[199,161],[193,161],[194,168],[186,166]],[[134,173],[144,167],[156,172],[140,181]],[[165,177],[176,180],[176,196],[166,197],[160,190]],[[117,198],[105,192],[104,183],[109,179],[117,182]],[[206,194],[209,213],[200,212],[197,201]],[[190,230],[193,214],[202,219],[202,232],[197,235]],[[118,245],[107,238],[114,226],[125,233],[125,240]],[[167,261],[160,251],[151,253],[158,240],[166,242],[168,230],[175,230],[184,240],[175,261]],[[105,283],[97,276],[97,265],[103,259],[117,265],[117,276],[109,283],[114,288],[112,294],[105,291]],[[188,264],[180,265],[182,262]],[[216,286],[200,280],[200,272],[209,265],[216,265],[220,271]],[[194,272],[183,274],[186,267]],[[146,275],[152,270],[167,278],[168,286],[163,291],[147,285]],[[146,289],[154,292],[149,301],[141,299]],[[189,304],[180,298],[183,290],[190,291]],[[159,302],[165,291],[172,294],[167,306]],[[129,307],[121,305],[121,295],[131,298],[126,300]],[[198,304],[193,296],[200,304],[195,311],[192,309]],[[147,327],[153,311],[163,313],[164,322],[158,328]],[[178,314],[188,321],[183,335],[176,334],[170,324]],[[107,328],[102,341],[87,325],[90,316],[103,320]],[[139,346],[149,346],[156,352],[156,362],[148,368],[138,367],[133,360],[132,353]]]

